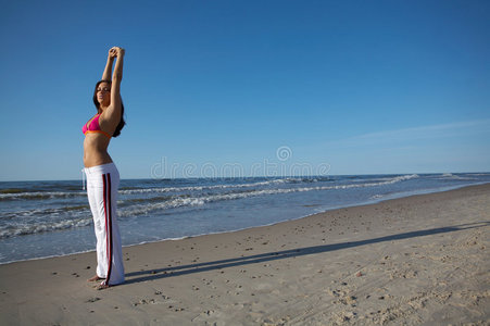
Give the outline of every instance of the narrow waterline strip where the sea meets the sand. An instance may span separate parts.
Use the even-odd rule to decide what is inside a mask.
[[[342,209],[348,209],[348,208],[356,208],[356,206],[364,206],[364,205],[372,205],[372,204],[377,204],[377,203],[381,203],[381,202],[390,201],[390,200],[410,198],[410,197],[413,197],[413,196],[447,192],[447,191],[463,189],[463,188],[467,188],[467,187],[481,186],[481,185],[486,185],[486,184],[490,185],[490,183],[482,181],[482,183],[478,183],[478,184],[474,184],[474,185],[469,185],[469,186],[468,185],[465,185],[465,186],[448,186],[448,187],[444,187],[444,188],[437,188],[437,189],[414,190],[413,192],[415,192],[415,193],[409,193],[406,196],[402,195],[400,197],[398,196],[398,193],[392,193],[390,196],[387,196],[388,198],[372,199],[372,200],[367,200],[367,201],[364,201],[364,202],[361,202],[361,203],[351,204],[351,205],[336,206],[336,208],[327,209],[327,210],[322,211],[322,212],[315,212],[315,213],[302,215],[302,216],[299,216],[299,217],[293,217],[293,218],[289,218],[289,220],[285,220],[285,221],[280,221],[280,222],[274,222],[274,223],[271,223],[271,224],[250,226],[250,227],[246,227],[246,228],[231,229],[231,230],[225,230],[225,231],[216,231],[216,233],[209,233],[209,234],[199,234],[199,235],[184,236],[184,237],[179,237],[179,238],[166,238],[166,239],[159,239],[159,240],[153,240],[153,241],[142,241],[142,242],[139,242],[139,243],[125,244],[125,246],[123,246],[123,249],[124,248],[129,248],[129,247],[135,247],[135,246],[142,246],[142,244],[148,244],[148,243],[162,242],[162,241],[180,241],[180,240],[188,239],[188,238],[197,238],[197,237],[204,237],[204,236],[212,236],[212,235],[221,235],[221,234],[227,234],[227,233],[237,233],[237,231],[247,230],[247,229],[274,226],[276,224],[290,222],[290,221],[297,221],[297,220],[301,220],[301,218],[307,218],[310,216],[314,216],[314,215],[317,215],[317,214],[324,214],[324,213],[328,213],[328,212],[336,211],[336,210],[342,210]],[[412,191],[410,191],[410,192],[412,192]],[[394,195],[394,197],[393,197],[393,195]],[[72,252],[72,253],[62,254],[62,255],[47,255],[47,256],[32,258],[32,259],[17,260],[17,261],[0,262],[0,266],[12,264],[12,263],[17,263],[17,262],[28,262],[28,261],[37,261],[37,260],[45,260],[45,259],[62,258],[62,256],[70,256],[70,255],[90,253],[90,252],[96,252],[96,249],[89,249],[89,250],[85,250],[85,251],[77,251],[77,252]]]

